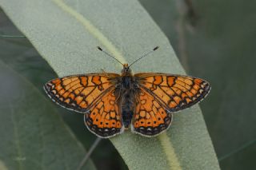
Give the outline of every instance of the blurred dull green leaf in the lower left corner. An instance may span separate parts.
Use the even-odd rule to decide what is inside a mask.
[[[2,61],[0,79],[0,168],[77,168],[85,149],[53,105]]]

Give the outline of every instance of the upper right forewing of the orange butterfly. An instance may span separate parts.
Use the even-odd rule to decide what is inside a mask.
[[[200,78],[165,73],[138,73],[134,77],[142,89],[153,95],[168,112],[186,109],[201,101],[210,84]]]

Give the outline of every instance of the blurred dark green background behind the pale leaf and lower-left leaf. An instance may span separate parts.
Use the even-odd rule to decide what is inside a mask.
[[[140,2],[170,39],[186,73],[212,85],[200,105],[221,168],[256,169],[256,1]],[[22,35],[2,10],[0,34]],[[1,61],[41,92],[57,77],[26,38],[0,38],[0,49]],[[85,130],[83,116],[60,107],[58,112],[90,148],[95,136]],[[98,169],[127,169],[109,140],[102,140],[91,158]]]

